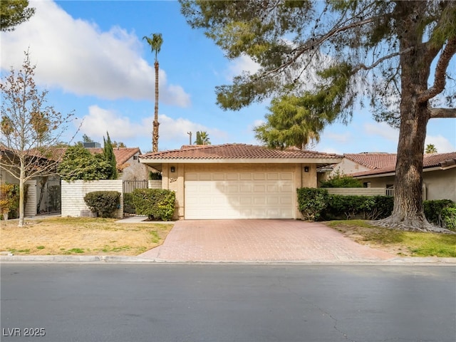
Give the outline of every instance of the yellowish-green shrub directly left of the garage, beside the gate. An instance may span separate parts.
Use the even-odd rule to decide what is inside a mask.
[[[176,194],[171,190],[135,189],[133,203],[136,214],[147,215],[149,219],[169,221],[175,211]]]

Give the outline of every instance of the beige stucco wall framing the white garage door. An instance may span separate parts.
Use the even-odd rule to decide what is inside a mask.
[[[171,172],[172,167],[174,172]],[[306,172],[305,167],[309,167]],[[317,187],[316,165],[301,163],[163,163],[162,189],[176,193],[175,219],[185,219],[186,172],[292,172],[294,187]],[[301,217],[295,200],[296,218]]]

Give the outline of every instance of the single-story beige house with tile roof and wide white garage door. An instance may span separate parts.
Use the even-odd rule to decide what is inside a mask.
[[[190,145],[140,155],[176,192],[178,219],[296,219],[296,188],[316,187],[317,168],[342,156],[245,144]]]

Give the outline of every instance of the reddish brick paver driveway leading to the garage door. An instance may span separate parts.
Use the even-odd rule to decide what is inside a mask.
[[[178,221],[162,246],[138,257],[157,261],[382,261],[395,255],[351,241],[319,223],[292,219]]]

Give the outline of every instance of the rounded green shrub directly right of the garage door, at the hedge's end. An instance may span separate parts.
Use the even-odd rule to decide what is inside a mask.
[[[316,221],[328,205],[328,191],[311,187],[301,187],[298,193],[298,206],[306,221]]]

